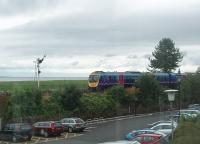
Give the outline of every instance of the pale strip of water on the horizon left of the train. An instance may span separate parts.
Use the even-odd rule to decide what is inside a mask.
[[[41,81],[51,81],[51,80],[88,80],[87,77],[40,77]],[[34,81],[34,77],[5,77],[0,76],[0,82],[2,81]]]

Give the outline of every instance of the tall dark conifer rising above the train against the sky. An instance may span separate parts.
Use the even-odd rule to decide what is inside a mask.
[[[170,38],[160,40],[152,55],[153,58],[149,58],[149,67],[163,72],[175,70],[183,59],[182,53],[175,48],[175,43]]]

